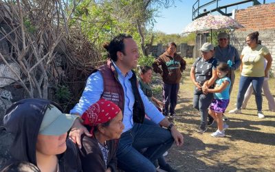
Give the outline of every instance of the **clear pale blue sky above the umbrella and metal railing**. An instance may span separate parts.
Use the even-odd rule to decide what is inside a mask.
[[[205,4],[210,0],[200,0],[199,3]],[[241,0],[220,0],[218,2],[219,6],[225,6],[230,3],[236,3]],[[263,0],[258,0],[260,3],[263,3]],[[192,22],[192,6],[197,2],[197,0],[175,0],[175,5],[170,8],[162,8],[159,9],[159,17],[157,17],[156,23],[154,25],[153,30],[161,31],[166,34],[180,34],[182,30],[188,25],[188,23]],[[265,3],[274,3],[275,0],[265,0]],[[197,5],[197,4],[196,4]],[[207,10],[212,10],[217,6],[217,3],[214,3],[210,6],[207,6]],[[244,3],[239,6],[234,6],[228,8],[228,12],[232,12],[232,10],[237,9],[245,9],[248,6],[252,6],[252,2]],[[197,6],[196,6],[197,7]],[[213,12],[212,14],[219,14],[217,12]]]

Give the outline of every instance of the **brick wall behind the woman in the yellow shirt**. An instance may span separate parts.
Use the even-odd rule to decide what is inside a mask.
[[[234,19],[244,28],[232,32],[230,43],[241,53],[243,47],[246,46],[245,37],[251,32],[259,31],[262,45],[265,45],[272,55],[272,74],[275,74],[275,3],[236,10]]]

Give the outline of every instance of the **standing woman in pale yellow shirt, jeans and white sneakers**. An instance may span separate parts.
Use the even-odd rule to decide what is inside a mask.
[[[267,47],[261,45],[258,39],[259,32],[252,32],[246,36],[247,47],[243,48],[241,52],[241,78],[239,81],[239,92],[237,96],[236,109],[229,111],[230,114],[240,114],[243,98],[250,83],[252,83],[256,106],[259,118],[265,118],[262,112],[263,97],[261,90],[263,87],[263,80],[268,76],[268,72],[272,65],[272,57]],[[265,68],[265,60],[267,66]]]

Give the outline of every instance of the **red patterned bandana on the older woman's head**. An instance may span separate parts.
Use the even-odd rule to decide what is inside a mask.
[[[91,105],[81,116],[83,125],[91,126],[90,133],[93,134],[94,127],[115,118],[120,112],[120,108],[115,103],[100,98]]]

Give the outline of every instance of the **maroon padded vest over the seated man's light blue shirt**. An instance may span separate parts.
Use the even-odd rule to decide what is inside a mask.
[[[124,114],[124,92],[123,87],[118,80],[118,73],[115,71],[115,67],[111,61],[108,61],[106,65],[100,66],[94,72],[99,71],[103,78],[103,93],[102,98],[110,100],[122,110]],[[94,73],[93,72],[93,73]],[[133,105],[133,121],[142,123],[144,121],[145,111],[140,92],[138,91],[137,77],[132,70],[133,76],[129,79],[133,89],[133,95],[135,96],[135,103]]]

